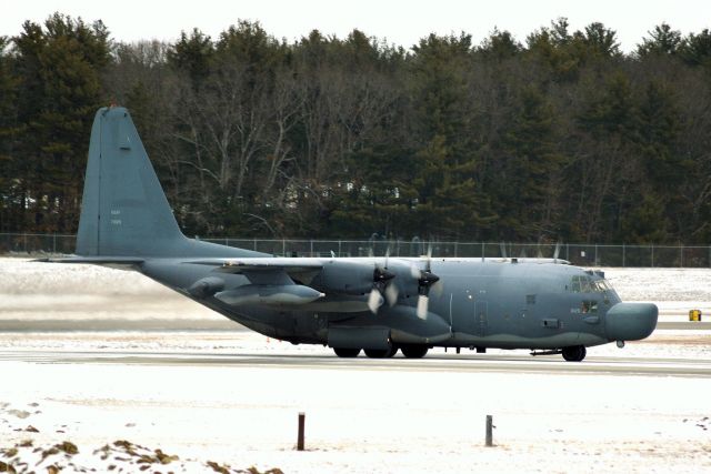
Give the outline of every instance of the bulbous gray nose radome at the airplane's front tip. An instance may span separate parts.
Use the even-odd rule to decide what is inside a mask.
[[[638,341],[657,327],[659,310],[652,303],[618,303],[604,319],[610,341]]]

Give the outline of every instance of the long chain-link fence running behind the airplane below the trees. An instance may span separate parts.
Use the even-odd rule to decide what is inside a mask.
[[[499,242],[437,242],[413,239],[388,241],[298,239],[203,239],[279,256],[419,256],[432,246],[433,256],[459,258],[558,258],[580,266],[709,268],[711,245],[602,245],[528,244]],[[0,254],[71,254],[76,235],[0,233]]]

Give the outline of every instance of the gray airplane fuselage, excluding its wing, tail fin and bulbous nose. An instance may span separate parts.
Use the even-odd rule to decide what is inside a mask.
[[[377,259],[348,261],[373,264]],[[418,261],[391,259],[390,265]],[[417,288],[401,288],[397,304],[383,304],[377,314],[363,307],[367,294],[337,295],[300,307],[234,306],[188,293],[196,281],[214,274],[210,268],[174,259],[151,259],[139,270],[233,321],[293,343],[327,344],[333,330],[380,327],[387,327],[395,343],[432,346],[557,349],[604,344],[620,337],[605,330],[605,315],[620,299],[599,273],[564,264],[505,259],[432,259],[431,269],[440,276],[443,290],[430,295],[424,320],[414,314]],[[221,278],[226,289],[250,283],[241,274]],[[334,310],[349,304],[360,306],[349,312]],[[639,335],[647,331],[642,324]],[[637,334],[625,335],[635,339]]]

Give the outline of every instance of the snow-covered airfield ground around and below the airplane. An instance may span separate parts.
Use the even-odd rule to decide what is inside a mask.
[[[692,307],[711,316],[711,270],[605,273],[623,300],[658,303],[662,321]],[[82,331],[96,320],[134,325]],[[22,321],[53,330],[19,331]],[[427,359],[309,365],[332,353],[240,330],[141,275],[18,259],[0,259],[2,324],[0,463],[18,472],[711,472],[711,373],[620,362],[631,369],[588,374],[559,357],[542,359],[550,372],[475,370],[498,354],[525,364],[524,351],[464,359],[461,371]],[[187,330],[196,324],[206,331]],[[658,330],[623,350],[592,347],[582,364],[705,369],[710,347],[710,331]],[[216,354],[224,361],[204,363]],[[306,452],[294,451],[299,412]],[[494,447],[483,446],[487,414]]]

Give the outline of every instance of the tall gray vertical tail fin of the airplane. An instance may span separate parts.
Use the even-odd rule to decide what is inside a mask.
[[[128,110],[99,109],[91,129],[77,254],[169,256],[187,240]]]

